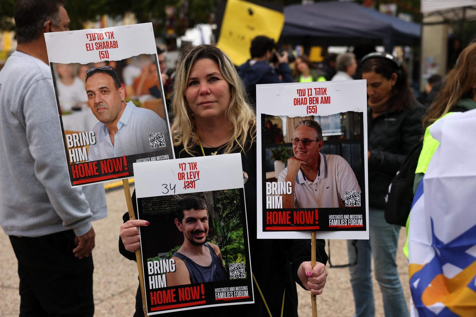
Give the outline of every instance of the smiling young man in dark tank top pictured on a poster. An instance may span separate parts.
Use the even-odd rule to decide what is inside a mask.
[[[208,243],[208,211],[198,197],[181,198],[175,206],[175,225],[183,233],[183,244],[172,258],[175,272],[167,273],[167,286],[215,282],[228,279],[220,248]]]

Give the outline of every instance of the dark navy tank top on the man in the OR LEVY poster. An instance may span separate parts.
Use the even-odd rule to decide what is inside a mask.
[[[175,252],[173,254],[173,257],[181,259],[187,266],[188,273],[190,274],[190,284],[223,281],[228,279],[227,271],[221,264],[215,250],[208,243],[205,243],[205,246],[210,250],[211,255],[211,264],[208,267],[198,265],[181,253]]]

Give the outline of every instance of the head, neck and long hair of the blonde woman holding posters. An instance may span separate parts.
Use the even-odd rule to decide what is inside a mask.
[[[176,158],[248,152],[256,139],[256,116],[228,57],[216,47],[184,50],[172,93]],[[185,154],[186,153],[186,154]]]

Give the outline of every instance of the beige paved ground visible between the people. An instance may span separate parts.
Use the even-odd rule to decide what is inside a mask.
[[[111,191],[106,194],[108,200],[108,218],[94,222],[96,248],[94,258],[94,301],[95,316],[131,317],[134,311],[135,293],[138,286],[137,266],[135,262],[123,258],[118,252],[119,226],[126,212],[124,192]],[[400,233],[399,250],[404,243],[404,231]],[[332,241],[333,262],[347,261],[344,240]],[[17,259],[13,254],[9,238],[0,233],[0,316],[16,317],[19,314],[20,296],[18,295]],[[347,262],[346,262],[347,263]],[[398,272],[404,286],[407,302],[409,300],[407,260],[401,251],[397,254]],[[347,268],[329,268],[324,293],[317,297],[319,317],[352,316],[354,301],[349,283]],[[374,281],[376,316],[384,316],[382,297]],[[311,317],[309,293],[298,287],[299,316]],[[259,298],[255,298],[259,300]],[[277,299],[280,300],[280,299]],[[199,314],[198,314],[199,316]]]

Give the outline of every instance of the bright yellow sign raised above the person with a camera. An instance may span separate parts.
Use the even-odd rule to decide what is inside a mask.
[[[251,40],[265,35],[278,41],[283,25],[281,12],[247,1],[228,0],[217,46],[228,54],[233,64],[241,65],[251,58]]]

